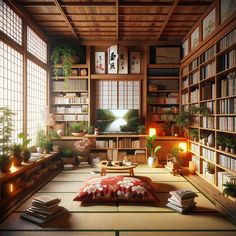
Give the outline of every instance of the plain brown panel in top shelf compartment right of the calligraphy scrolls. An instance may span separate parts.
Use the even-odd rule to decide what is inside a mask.
[[[156,64],[175,64],[179,61],[179,47],[156,47]]]

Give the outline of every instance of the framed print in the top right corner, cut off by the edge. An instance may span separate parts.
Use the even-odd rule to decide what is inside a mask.
[[[220,22],[224,23],[229,16],[236,11],[235,0],[221,0],[220,1]],[[236,13],[236,12],[235,12]]]

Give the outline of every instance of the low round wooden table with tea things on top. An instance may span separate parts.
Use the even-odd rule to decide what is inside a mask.
[[[137,163],[132,163],[131,165],[119,165],[118,161],[112,161],[112,166],[107,165],[108,161],[101,161],[98,164],[98,167],[101,169],[101,176],[106,175],[107,170],[114,170],[114,171],[123,171],[127,170],[130,176],[134,176],[134,168],[138,165]]]

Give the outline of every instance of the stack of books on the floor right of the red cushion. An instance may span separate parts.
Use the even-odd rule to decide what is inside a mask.
[[[167,207],[182,214],[189,213],[196,206],[195,197],[198,195],[191,190],[171,191],[168,198]]]

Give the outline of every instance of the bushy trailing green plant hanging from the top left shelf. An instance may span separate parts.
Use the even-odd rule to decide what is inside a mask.
[[[52,50],[51,60],[55,66],[62,65],[63,73],[66,78],[71,76],[72,65],[80,63],[83,58],[82,47],[73,43],[62,43],[55,46]],[[54,69],[55,76],[58,76],[59,68]]]

